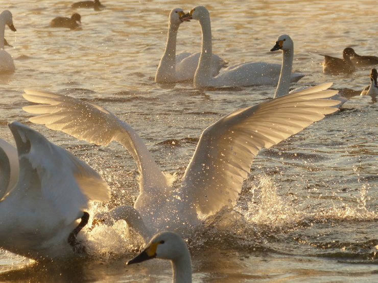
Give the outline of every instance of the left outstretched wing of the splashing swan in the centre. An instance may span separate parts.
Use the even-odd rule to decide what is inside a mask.
[[[108,145],[120,142],[131,153],[141,175],[140,190],[167,187],[167,179],[157,168],[147,146],[126,122],[96,104],[48,91],[26,89],[23,97],[42,105],[23,107],[33,114],[29,120],[62,131],[80,140]]]

